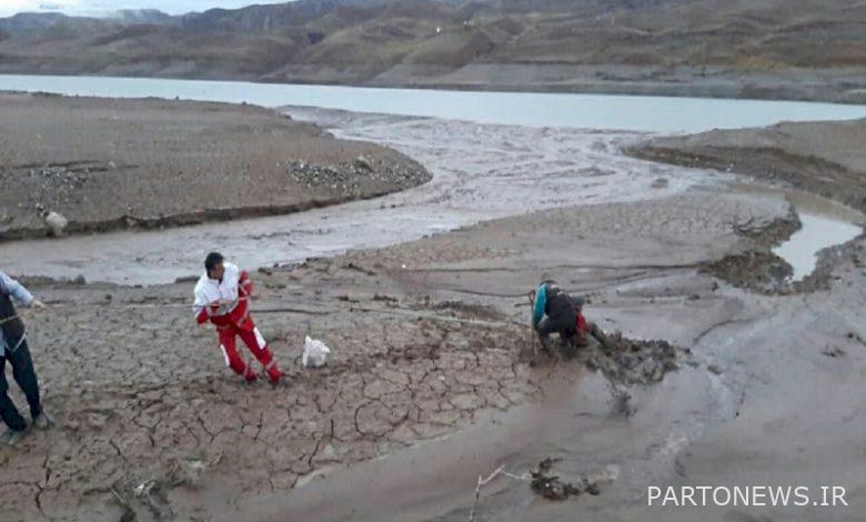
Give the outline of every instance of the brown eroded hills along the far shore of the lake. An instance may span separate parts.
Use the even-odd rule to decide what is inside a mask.
[[[717,77],[713,94],[830,70],[866,92],[864,34],[863,0],[299,0],[17,14],[0,19],[0,72],[658,92]]]

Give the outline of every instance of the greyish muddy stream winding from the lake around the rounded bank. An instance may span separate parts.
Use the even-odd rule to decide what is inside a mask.
[[[622,155],[635,132],[538,129],[289,109],[340,137],[394,147],[433,180],[413,190],[290,215],[3,245],[10,273],[155,284],[199,272],[219,249],[246,265],[375,248],[481,220],[580,203],[662,198],[729,175]]]

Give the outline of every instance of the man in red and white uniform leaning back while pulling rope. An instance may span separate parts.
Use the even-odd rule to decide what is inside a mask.
[[[264,367],[271,382],[276,384],[283,372],[250,317],[252,292],[252,281],[245,271],[225,261],[218,252],[209,253],[204,260],[204,274],[195,284],[195,321],[204,324],[210,320],[216,327],[225,364],[246,382],[255,381],[256,374],[252,361],[244,361],[238,353],[238,337]]]

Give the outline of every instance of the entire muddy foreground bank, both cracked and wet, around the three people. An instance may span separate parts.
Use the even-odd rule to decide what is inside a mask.
[[[0,458],[0,506],[13,520],[467,520],[479,474],[547,456],[563,476],[604,475],[601,494],[550,503],[501,478],[479,520],[661,520],[646,485],[692,476],[838,472],[862,491],[863,241],[832,265],[844,284],[808,298],[748,293],[701,269],[791,219],[783,198],[695,190],[264,269],[253,309],[289,370],[276,388],[226,373],[213,332],[192,325],[189,283],[30,280],[51,304],[26,313],[57,425]],[[542,274],[588,295],[606,330],[678,347],[661,375],[632,379],[646,374],[597,347],[527,358],[525,293]],[[334,349],[325,369],[300,368],[304,334]],[[635,364],[654,364],[642,350]]]

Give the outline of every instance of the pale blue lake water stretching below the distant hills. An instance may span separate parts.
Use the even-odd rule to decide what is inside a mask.
[[[866,118],[866,107],[703,98],[377,89],[144,78],[0,76],[0,90],[305,106],[530,127],[701,132],[779,121]]]

